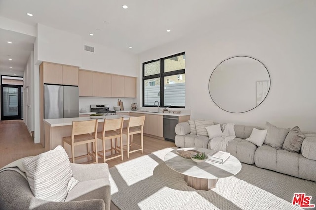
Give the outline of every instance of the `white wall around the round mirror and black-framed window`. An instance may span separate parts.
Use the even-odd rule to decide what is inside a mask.
[[[316,131],[316,4],[302,1],[295,7],[225,25],[221,29],[186,37],[140,54],[141,63],[182,51],[186,52],[186,108],[191,119],[212,119],[264,126],[298,125]],[[207,26],[205,26],[207,27]],[[209,77],[223,60],[246,55],[268,69],[271,87],[257,108],[240,114],[218,108],[208,92]]]

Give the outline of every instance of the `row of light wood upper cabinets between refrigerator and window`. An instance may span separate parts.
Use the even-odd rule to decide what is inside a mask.
[[[79,96],[136,98],[136,77],[79,70]]]

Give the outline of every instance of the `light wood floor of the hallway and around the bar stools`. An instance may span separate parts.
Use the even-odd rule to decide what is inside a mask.
[[[140,136],[134,136],[134,142],[140,142]],[[144,153],[135,152],[127,159],[124,152],[124,161],[128,161],[142,155],[150,154],[154,151],[167,147],[174,147],[174,142],[163,141],[156,138],[144,136]],[[22,157],[34,156],[44,152],[42,145],[34,144],[23,120],[5,120],[0,122],[0,168]],[[103,159],[99,159],[103,162]],[[120,158],[106,161],[109,168],[122,163]]]

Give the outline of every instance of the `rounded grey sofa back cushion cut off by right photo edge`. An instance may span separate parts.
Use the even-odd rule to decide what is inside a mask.
[[[310,160],[316,160],[316,134],[305,134],[302,143],[301,153]]]

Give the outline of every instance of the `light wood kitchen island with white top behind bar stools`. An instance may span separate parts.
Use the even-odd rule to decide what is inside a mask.
[[[124,120],[129,120],[129,115],[106,115],[106,119],[116,119],[122,118]],[[45,151],[49,151],[57,147],[58,145],[63,145],[63,137],[71,136],[72,123],[73,121],[85,121],[93,120],[90,117],[77,117],[77,118],[57,118],[57,119],[45,119],[44,120],[44,136],[45,136]],[[98,119],[98,131],[103,130],[104,119]],[[126,123],[124,123],[126,124]],[[125,143],[126,143],[126,138]],[[124,140],[123,139],[123,140]],[[110,141],[106,142],[106,148],[110,148]],[[98,150],[102,149],[102,141],[98,141]],[[69,157],[71,157],[71,148],[68,144],[65,145],[65,150]],[[80,156],[87,153],[87,148],[85,145],[80,145],[75,147],[76,156]]]

